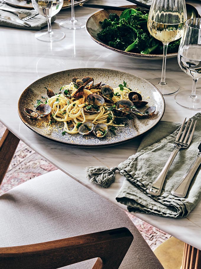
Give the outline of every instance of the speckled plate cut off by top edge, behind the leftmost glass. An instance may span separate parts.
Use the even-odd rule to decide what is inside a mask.
[[[74,6],[78,6],[80,3],[85,3],[88,0],[75,0],[74,1]],[[26,0],[4,0],[6,4],[9,4],[10,6],[13,7],[18,7],[18,8],[25,8],[25,9],[33,9],[33,5],[31,1],[26,1]],[[69,8],[71,7],[71,2],[68,0],[64,0],[64,4],[62,6],[62,9]]]

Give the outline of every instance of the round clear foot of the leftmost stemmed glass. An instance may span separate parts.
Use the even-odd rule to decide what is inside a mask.
[[[37,38],[40,41],[44,42],[55,42],[63,39],[65,36],[64,32],[60,30],[52,30],[51,33],[49,33],[47,30],[41,30],[38,31],[35,34],[35,38]]]

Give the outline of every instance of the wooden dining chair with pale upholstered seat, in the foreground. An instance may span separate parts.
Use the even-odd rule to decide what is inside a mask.
[[[1,269],[163,268],[122,209],[59,170],[1,195],[0,227]]]

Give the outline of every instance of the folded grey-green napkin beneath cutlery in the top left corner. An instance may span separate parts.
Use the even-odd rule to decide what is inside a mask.
[[[36,14],[36,12],[33,11],[33,10],[12,7],[12,6],[9,6],[9,5],[7,5],[5,3],[2,3],[2,2],[0,2],[0,6],[1,7],[6,7],[6,8],[9,8],[9,9],[13,9],[15,11],[19,11],[20,13],[24,13],[24,14],[26,14],[28,16],[32,16],[32,15]],[[11,18],[20,20],[20,18],[18,18],[17,15],[12,14],[11,12],[8,12],[8,11],[0,10],[0,15],[1,16],[9,16]],[[4,20],[4,19],[1,18],[1,16],[0,16],[0,26],[8,26],[8,27],[27,29],[27,30],[40,30],[42,27],[47,25],[47,19],[44,16],[40,15],[40,14],[37,15],[36,17],[30,19],[30,20],[25,21],[26,23],[29,23],[31,25],[31,27],[23,26],[21,24],[18,24],[18,23],[9,21],[9,20]],[[53,22],[55,20],[56,20],[56,15],[51,18],[51,22]],[[23,20],[20,20],[20,21],[23,22]]]

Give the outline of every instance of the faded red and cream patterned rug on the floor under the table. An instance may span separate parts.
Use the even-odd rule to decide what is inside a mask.
[[[4,125],[0,123],[0,138],[5,130]],[[20,141],[7,174],[1,184],[0,195],[29,179],[56,169],[54,165],[48,163],[48,161]],[[132,214],[128,212],[127,214],[152,250],[170,237],[167,233],[134,217]]]

